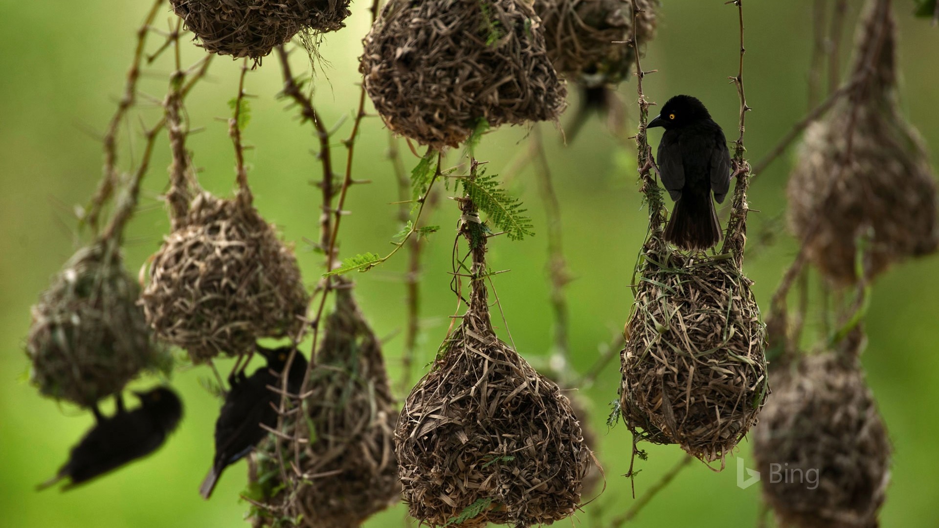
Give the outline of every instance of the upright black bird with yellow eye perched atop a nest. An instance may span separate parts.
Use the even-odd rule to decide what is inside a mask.
[[[721,203],[731,187],[731,153],[724,131],[704,104],[688,95],[666,102],[647,126],[653,127],[665,128],[658,166],[675,201],[665,240],[685,250],[708,249],[720,241],[711,192]]]

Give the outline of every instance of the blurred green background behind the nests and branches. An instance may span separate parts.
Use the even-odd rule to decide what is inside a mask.
[[[660,13],[659,33],[648,46],[646,69],[658,73],[647,78],[646,94],[660,103],[675,93],[690,93],[704,101],[716,120],[735,135],[738,101],[727,77],[737,67],[736,11],[723,0],[667,0]],[[850,2],[845,26],[850,42],[860,2]],[[936,104],[936,69],[939,29],[910,12],[913,3],[895,6],[901,34],[901,105],[922,132],[933,152],[939,151],[939,105]],[[199,379],[205,368],[177,371],[172,382],[184,396],[186,414],[181,427],[154,456],[135,462],[115,474],[68,493],[37,492],[34,486],[54,474],[92,418],[85,412],[56,405],[38,396],[24,381],[23,354],[29,307],[49,278],[76,247],[75,204],[84,204],[100,177],[100,137],[115,109],[125,71],[130,64],[134,30],[150,2],[86,0],[65,2],[0,2],[0,511],[3,526],[199,526],[243,525],[247,505],[239,502],[245,484],[245,463],[224,474],[210,502],[196,492],[208,470],[212,454],[211,432],[219,402]],[[807,78],[811,48],[810,0],[747,2],[747,100],[754,111],[747,115],[747,149],[757,160],[807,110]],[[172,13],[158,17],[165,29]],[[367,31],[367,4],[353,6],[346,29],[327,36],[320,48],[326,62],[316,74],[316,104],[328,121],[350,117],[359,90],[357,57]],[[846,44],[844,48],[848,48]],[[184,58],[201,51],[187,42]],[[847,54],[848,50],[844,50]],[[294,55],[294,68],[308,64]],[[846,61],[842,60],[842,65]],[[208,80],[195,90],[189,103],[193,127],[189,147],[195,163],[205,170],[204,187],[229,194],[234,186],[233,156],[226,124],[227,101],[235,96],[239,62],[216,59]],[[158,61],[148,67],[143,91],[161,100],[171,65]],[[321,272],[320,257],[308,251],[304,237],[316,238],[319,195],[310,180],[318,179],[319,165],[310,153],[316,141],[309,125],[301,126],[286,101],[275,95],[281,87],[278,64],[272,58],[249,73],[247,89],[253,119],[245,136],[256,146],[248,153],[255,205],[269,221],[281,226],[285,239],[297,243],[300,264],[309,285]],[[574,91],[574,90],[572,90]],[[635,117],[635,85],[621,88]],[[158,106],[142,99],[139,115],[152,122]],[[577,107],[572,96],[571,108]],[[572,114],[572,112],[568,112]],[[137,115],[130,121],[139,130]],[[562,121],[571,116],[564,116]],[[351,119],[339,135],[348,133]],[[635,152],[613,140],[593,118],[577,140],[562,146],[560,135],[543,127],[546,147],[560,195],[565,251],[576,280],[567,288],[571,308],[573,364],[586,370],[603,346],[621,332],[632,301],[628,289],[639,244],[646,229],[645,211],[637,193]],[[131,134],[133,135],[133,134]],[[127,144],[131,135],[121,140]],[[505,128],[485,137],[479,156],[500,170],[521,149],[527,148],[524,128]],[[652,134],[657,144],[658,132]],[[134,137],[139,139],[139,137]],[[626,142],[628,144],[629,142]],[[350,191],[343,222],[341,251],[345,256],[365,251],[384,252],[400,225],[393,170],[387,161],[388,134],[376,117],[367,118],[359,138],[354,174],[371,179]],[[341,146],[337,145],[337,149]],[[338,150],[337,150],[338,151]],[[408,166],[417,163],[402,143]],[[123,162],[130,163],[129,151]],[[451,157],[455,160],[455,156]],[[128,234],[127,262],[136,272],[167,232],[168,223],[158,200],[166,185],[169,163],[165,138],[161,139],[142,199],[139,214]],[[771,245],[760,244],[756,234],[778,224],[785,208],[785,182],[791,153],[780,158],[757,179],[751,189],[752,249],[746,270],[756,281],[763,310],[777,286],[780,273],[794,255],[795,245],[782,235]],[[537,187],[530,171],[512,179],[510,187],[531,211],[536,236],[521,242],[502,238],[491,244],[490,264],[511,270],[496,279],[519,351],[533,364],[544,365],[551,348],[551,314],[546,302],[546,225]],[[449,200],[441,201],[431,220],[441,232],[425,245],[423,272],[423,336],[416,367],[425,368],[446,332],[454,297],[448,283],[453,228],[458,213]],[[381,336],[388,336],[386,353],[391,376],[401,372],[398,358],[405,320],[403,253],[384,266],[356,274],[362,308]],[[868,320],[870,345],[863,357],[880,409],[896,447],[893,483],[888,490],[882,520],[886,527],[932,527],[939,522],[936,470],[939,450],[939,265],[937,258],[908,262],[883,276],[873,290]],[[817,320],[813,317],[812,321]],[[498,319],[497,319],[498,320]],[[501,323],[499,323],[501,325]],[[502,329],[504,330],[504,329]],[[223,368],[227,365],[223,365]],[[420,375],[418,372],[417,375]],[[140,380],[146,386],[156,380]],[[629,466],[630,436],[622,425],[605,425],[608,402],[616,397],[619,371],[607,365],[593,386],[582,392],[593,402],[590,424],[600,433],[596,446],[607,474],[606,492],[578,514],[576,523],[604,525],[603,521],[632,504],[629,482],[621,476]],[[399,395],[403,396],[403,395]],[[741,443],[739,456],[750,460],[750,446]],[[647,489],[679,458],[677,447],[649,449],[648,462],[639,463],[638,493]],[[635,521],[638,526],[747,526],[759,508],[759,487],[738,489],[735,466],[715,473],[694,462],[664,489]],[[750,464],[752,467],[752,463]],[[400,505],[378,515],[370,526],[402,526]]]

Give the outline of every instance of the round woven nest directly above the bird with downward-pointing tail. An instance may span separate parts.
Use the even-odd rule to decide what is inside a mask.
[[[195,363],[253,349],[259,337],[296,336],[304,325],[297,258],[239,198],[198,194],[149,272],[147,321]]]

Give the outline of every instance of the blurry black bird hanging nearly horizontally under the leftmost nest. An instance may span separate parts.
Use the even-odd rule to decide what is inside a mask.
[[[177,427],[182,402],[167,387],[133,394],[140,398],[140,407],[133,411],[118,409],[111,417],[96,416],[98,424],[72,447],[69,461],[38,489],[69,478],[62,487],[65,491],[156,451]]]

